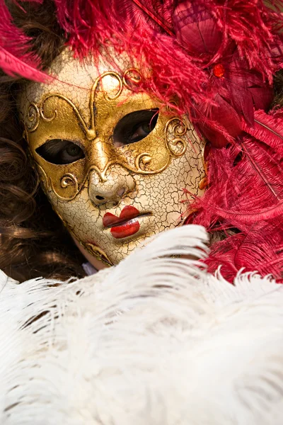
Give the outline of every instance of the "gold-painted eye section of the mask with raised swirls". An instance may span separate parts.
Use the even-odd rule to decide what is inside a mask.
[[[106,77],[117,83],[110,93],[100,90]],[[149,96],[132,91],[132,85],[139,84],[140,78],[134,68],[127,69],[122,77],[112,71],[101,74],[91,86],[89,124],[74,102],[63,94],[49,93],[42,96],[38,104],[30,102],[25,129],[39,172],[43,170],[48,177],[47,191],[52,191],[60,200],[73,200],[92,170],[104,182],[109,167],[115,164],[134,174],[157,174],[168,167],[172,158],[185,154],[188,130],[185,120],[163,113],[158,115],[156,128],[143,140],[120,148],[112,145],[115,125],[123,116],[143,110],[144,106],[156,108]],[[50,138],[80,140],[86,158],[64,165],[45,161],[36,149]]]

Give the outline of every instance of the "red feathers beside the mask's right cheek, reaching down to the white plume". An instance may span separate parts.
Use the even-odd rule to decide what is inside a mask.
[[[221,264],[221,273],[233,281],[236,272],[283,273],[283,158],[253,137],[244,144],[279,199],[270,192],[241,147],[212,148],[209,154],[209,181],[202,198],[190,203],[197,209],[193,222],[214,233],[226,232],[224,240],[211,246],[209,271]],[[236,234],[231,235],[231,230]]]

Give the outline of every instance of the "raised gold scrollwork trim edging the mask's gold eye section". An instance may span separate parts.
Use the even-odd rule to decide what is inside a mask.
[[[81,112],[79,111],[79,108],[76,107],[76,105],[71,101],[69,98],[64,96],[63,94],[59,93],[50,93],[45,94],[42,96],[42,99],[40,103],[31,102],[28,107],[28,122],[33,123],[33,125],[28,125],[26,127],[26,131],[28,132],[35,132],[37,130],[38,125],[40,124],[40,120],[43,120],[44,122],[50,123],[52,120],[57,118],[58,112],[57,109],[54,107],[52,111],[52,103],[51,107],[49,105],[49,108],[47,108],[47,102],[50,101],[52,98],[59,98],[61,101],[64,101],[67,103],[72,111],[74,111],[74,114],[76,115],[76,118],[79,121],[79,124],[81,125],[81,128],[83,129],[83,132],[86,135],[86,139],[90,142],[97,139],[97,130],[96,130],[96,112],[94,108],[95,104],[95,98],[96,98],[96,91],[98,89],[101,89],[100,84],[103,82],[103,78],[105,77],[113,77],[117,80],[117,89],[114,86],[111,86],[110,93],[107,93],[107,91],[102,91],[105,101],[112,102],[115,101],[119,96],[122,94],[123,87],[125,86],[127,89],[133,91],[134,88],[131,87],[129,84],[129,81],[132,81],[134,86],[139,86],[141,82],[141,74],[140,72],[135,68],[129,68],[127,69],[122,77],[120,77],[117,72],[104,72],[101,74],[91,86],[91,92],[88,102],[88,108],[90,113],[90,120],[89,123],[86,123],[86,120],[81,115]],[[48,113],[47,113],[48,111]],[[165,123],[164,123],[165,124]],[[123,166],[128,171],[132,171],[133,173],[137,174],[158,174],[161,173],[163,170],[165,170],[168,165],[171,162],[172,157],[181,157],[186,149],[187,149],[187,141],[185,140],[185,133],[187,132],[187,125],[183,120],[177,117],[173,117],[169,119],[165,125],[165,146],[166,154],[163,156],[163,160],[160,164],[157,164],[153,162],[153,154],[149,152],[142,152],[143,149],[140,149],[141,152],[137,152],[137,150],[134,151],[132,159],[129,161],[127,160],[127,157],[122,157],[121,152],[119,154],[112,154],[109,158],[106,160],[106,164],[91,164],[89,166],[88,170],[84,173],[83,179],[81,179],[81,176],[76,176],[73,173],[64,173],[63,176],[58,176],[59,181],[52,181],[52,179],[48,179],[47,188],[51,188],[51,190],[54,192],[54,194],[59,198],[59,200],[73,200],[77,194],[81,191],[81,188],[86,183],[86,180],[89,177],[89,174],[91,171],[95,170],[98,174],[100,181],[105,182],[107,181],[106,173],[110,166],[117,164],[120,166]],[[157,152],[158,149],[156,149],[156,144],[158,141],[156,140],[154,145],[154,151]],[[91,148],[92,149],[92,148]],[[154,166],[151,166],[151,163],[154,164]],[[157,166],[156,166],[156,165]],[[153,169],[156,167],[156,169]],[[40,167],[42,170],[42,167]]]

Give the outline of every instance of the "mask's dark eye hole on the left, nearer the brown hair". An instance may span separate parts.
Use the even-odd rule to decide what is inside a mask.
[[[63,139],[47,140],[35,152],[51,164],[71,164],[85,157],[79,145]]]

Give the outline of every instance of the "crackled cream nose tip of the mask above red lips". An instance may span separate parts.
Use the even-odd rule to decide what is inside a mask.
[[[121,166],[115,166],[106,181],[102,181],[96,171],[91,171],[88,181],[88,196],[93,205],[119,203],[123,196],[134,190],[134,179]]]

